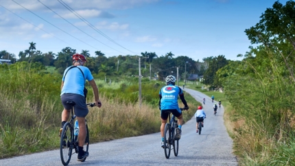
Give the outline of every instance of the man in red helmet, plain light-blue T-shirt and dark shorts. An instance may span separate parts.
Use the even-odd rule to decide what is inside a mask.
[[[62,125],[60,128],[60,133],[62,133],[62,127],[67,122],[70,116],[71,105],[67,105],[67,101],[75,102],[74,110],[75,115],[78,119],[79,124],[79,135],[78,135],[78,161],[84,161],[88,157],[88,152],[84,152],[83,146],[86,138],[86,125],[85,117],[88,114],[88,109],[86,107],[86,88],[85,81],[88,80],[89,84],[93,89],[93,94],[95,98],[95,105],[102,107],[102,102],[99,100],[98,88],[93,79],[90,70],[84,67],[86,58],[81,54],[74,54],[73,66],[70,66],[64,70],[64,75],[62,77],[61,94],[60,99],[64,110],[62,111]]]

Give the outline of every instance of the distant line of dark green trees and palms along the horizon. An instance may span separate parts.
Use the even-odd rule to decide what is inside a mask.
[[[67,46],[58,53],[49,51],[48,53],[42,53],[36,50],[36,43],[29,42],[29,49],[19,52],[19,58],[16,59],[14,54],[7,51],[0,52],[0,58],[11,59],[12,63],[17,61],[28,61],[30,63],[40,63],[43,66],[54,66],[56,70],[62,74],[65,68],[71,66],[71,56],[78,53],[75,49]],[[180,74],[180,79],[189,77],[189,74],[198,74],[199,76],[215,73],[219,68],[227,64],[228,59],[224,55],[218,55],[217,57],[207,57],[200,62],[194,61],[190,57],[180,55],[175,57],[172,52],[165,55],[158,56],[153,52],[143,52],[141,55],[117,55],[113,57],[106,57],[102,51],[95,51],[95,55],[91,56],[89,51],[82,50],[82,55],[86,56],[88,67],[93,74],[97,74],[99,77],[115,77],[124,76],[132,77],[139,74],[139,57],[141,57],[141,74],[143,77],[158,77],[163,79],[169,74],[176,75],[177,68]],[[215,65],[216,64],[216,65]],[[206,72],[207,69],[211,72]],[[206,83],[210,85],[214,84],[214,76],[204,76]]]

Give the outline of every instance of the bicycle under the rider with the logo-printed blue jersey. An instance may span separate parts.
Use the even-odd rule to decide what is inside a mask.
[[[184,108],[180,108],[180,110],[185,110]],[[169,111],[168,111],[169,112]],[[176,128],[178,128],[177,120],[175,120],[175,116],[172,115],[170,118],[171,112],[169,112],[168,120],[169,123],[165,124],[164,129],[164,152],[166,158],[169,158],[171,152],[171,146],[173,146],[174,156],[178,155],[178,141],[175,140]]]

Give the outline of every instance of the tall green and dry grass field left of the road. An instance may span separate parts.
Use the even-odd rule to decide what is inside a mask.
[[[0,158],[59,148],[60,81],[62,75],[40,64],[0,65]],[[99,85],[102,108],[89,108],[87,123],[91,142],[145,135],[160,131],[158,91],[164,84],[143,80],[143,104],[139,107],[138,81]],[[93,101],[91,87],[88,102]],[[148,91],[147,91],[148,89]],[[186,95],[191,110],[196,100]],[[155,104],[156,103],[156,104]],[[181,105],[180,105],[181,106]],[[190,120],[194,111],[184,111]],[[161,136],[159,135],[159,140]]]

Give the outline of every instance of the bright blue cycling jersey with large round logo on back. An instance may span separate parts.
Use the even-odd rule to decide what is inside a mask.
[[[178,95],[182,95],[182,89],[176,87],[175,85],[167,85],[162,87],[159,92],[161,98],[161,110],[163,109],[177,109],[178,112],[181,112],[178,107]]]

